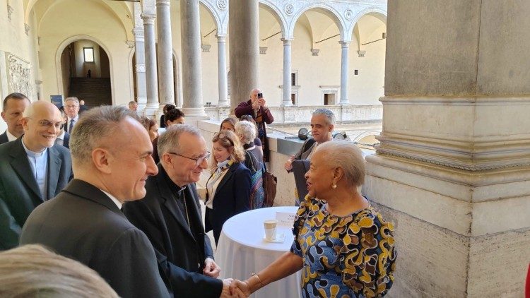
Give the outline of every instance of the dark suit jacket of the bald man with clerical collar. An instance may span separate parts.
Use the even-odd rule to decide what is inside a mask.
[[[40,203],[57,196],[73,177],[70,150],[48,148],[47,197],[42,198],[22,138],[0,145],[0,250],[18,246],[20,230]]]

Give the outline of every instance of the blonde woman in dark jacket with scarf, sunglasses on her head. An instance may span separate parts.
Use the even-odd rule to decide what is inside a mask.
[[[250,170],[242,163],[245,151],[232,131],[213,135],[211,176],[206,182],[206,232],[216,244],[228,218],[249,210]]]

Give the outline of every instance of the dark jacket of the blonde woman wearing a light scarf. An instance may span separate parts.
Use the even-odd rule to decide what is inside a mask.
[[[213,195],[213,209],[206,208],[204,221],[206,232],[213,230],[216,243],[228,218],[250,210],[250,170],[242,162],[235,162],[227,171]]]

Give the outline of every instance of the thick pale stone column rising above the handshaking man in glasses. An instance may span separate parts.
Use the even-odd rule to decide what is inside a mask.
[[[201,20],[199,0],[180,1],[182,44],[182,112],[186,117],[205,117],[202,103]]]

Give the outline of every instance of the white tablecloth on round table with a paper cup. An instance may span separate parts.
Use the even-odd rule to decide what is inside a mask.
[[[276,233],[285,234],[282,243],[266,242],[263,221],[275,219],[276,212],[296,213],[298,207],[271,207],[240,213],[223,225],[217,245],[216,262],[222,278],[246,280],[254,272],[269,266],[293,244],[293,227],[278,226]],[[255,292],[256,298],[299,298],[300,271]]]

